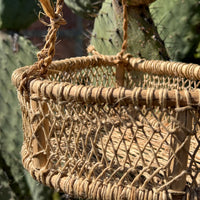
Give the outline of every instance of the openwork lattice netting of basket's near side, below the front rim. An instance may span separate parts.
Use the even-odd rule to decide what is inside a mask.
[[[31,95],[31,102],[19,99],[26,119],[24,143],[33,165],[42,158],[46,161],[41,167],[52,173],[87,179],[92,184],[100,181],[148,190],[170,188],[185,175],[169,178],[167,174],[178,153],[172,151],[171,141],[180,143],[176,137],[180,124],[173,109],[90,105],[72,99],[62,102],[36,94]],[[29,112],[24,112],[25,108]],[[193,188],[200,184],[200,143],[198,112],[191,111],[191,115],[195,124],[191,132],[195,134],[190,136],[192,145],[185,154],[187,184]],[[45,142],[39,141],[38,133]],[[35,170],[40,170],[39,165]]]

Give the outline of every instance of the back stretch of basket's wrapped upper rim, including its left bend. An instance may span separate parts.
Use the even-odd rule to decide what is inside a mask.
[[[53,61],[48,67],[48,70],[60,69],[60,70],[73,70],[73,69],[84,69],[88,66],[98,66],[98,65],[109,65],[115,66],[118,63],[116,55],[92,55],[92,56],[82,56],[67,58],[63,60]],[[122,61],[128,71],[140,71],[144,73],[149,73],[153,75],[163,75],[170,77],[180,77],[187,78],[190,80],[200,80],[200,65],[192,63],[181,63],[172,61],[162,61],[162,60],[146,60],[142,58],[129,57]],[[12,82],[18,87],[20,77],[15,77],[16,75],[22,73],[28,69],[28,66],[16,69],[12,74]],[[33,74],[34,75],[34,74]],[[20,76],[20,75],[19,75]]]

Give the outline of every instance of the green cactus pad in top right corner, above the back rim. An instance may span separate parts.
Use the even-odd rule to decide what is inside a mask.
[[[171,59],[195,62],[200,42],[199,1],[157,0],[150,9]]]

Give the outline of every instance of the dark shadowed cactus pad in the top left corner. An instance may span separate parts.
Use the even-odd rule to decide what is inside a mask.
[[[0,0],[0,29],[26,28],[37,19],[38,10],[37,0]]]

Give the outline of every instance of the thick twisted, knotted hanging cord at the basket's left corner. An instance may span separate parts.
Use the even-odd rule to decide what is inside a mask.
[[[37,53],[38,61],[26,70],[22,75],[22,82],[20,84],[19,90],[21,93],[26,91],[28,81],[35,77],[43,77],[47,73],[48,66],[51,64],[53,57],[55,55],[55,43],[56,35],[59,27],[65,25],[66,21],[63,18],[63,0],[57,0],[56,8],[54,9],[50,0],[39,0],[40,4],[46,14],[50,19],[50,28],[45,37],[45,45],[43,49]]]

